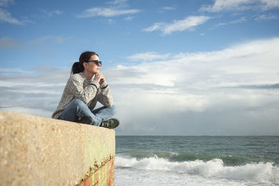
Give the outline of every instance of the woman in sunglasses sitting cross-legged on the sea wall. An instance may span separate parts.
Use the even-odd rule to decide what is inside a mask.
[[[83,52],[80,55],[80,61],[73,64],[72,73],[52,118],[107,128],[119,125],[116,118],[111,118],[115,114],[115,107],[110,86],[100,74],[101,65],[95,52]],[[94,109],[97,102],[104,107]]]

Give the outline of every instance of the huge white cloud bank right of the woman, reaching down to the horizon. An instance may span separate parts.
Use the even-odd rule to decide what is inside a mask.
[[[120,129],[125,132],[126,127],[137,123],[147,127],[151,121],[158,123],[154,125],[159,128],[168,122],[183,127],[183,121],[179,121],[176,114],[187,114],[184,121],[190,122],[191,115],[195,115],[193,112],[200,113],[197,125],[202,125],[204,130],[212,127],[210,121],[220,123],[220,127],[224,127],[223,122],[230,122],[221,116],[232,119],[228,124],[232,128],[236,125],[233,118],[239,118],[237,122],[245,123],[248,129],[255,123],[262,125],[258,116],[261,120],[273,118],[278,122],[279,117],[273,114],[279,111],[278,89],[241,88],[243,85],[278,84],[278,49],[279,38],[255,40],[215,52],[169,54],[161,61],[155,58],[149,63],[105,69],[103,73],[113,87],[123,121]],[[133,56],[140,58],[149,53],[163,56],[156,52]],[[129,108],[128,113],[126,108]],[[243,114],[248,112],[249,116]],[[264,131],[262,134],[272,133],[268,127]],[[234,132],[239,133],[227,130],[226,134],[245,133],[237,129]]]

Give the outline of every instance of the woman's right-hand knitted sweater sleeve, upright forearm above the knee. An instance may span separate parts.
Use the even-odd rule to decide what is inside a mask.
[[[113,98],[112,93],[110,92],[110,86],[107,82],[103,82],[100,85],[100,94],[98,95],[98,102],[103,104],[105,107],[112,107]]]

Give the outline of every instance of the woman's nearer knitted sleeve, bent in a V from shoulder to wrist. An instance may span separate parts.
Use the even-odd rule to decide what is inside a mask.
[[[75,98],[83,100],[85,104],[88,104],[95,98],[98,88],[100,87],[98,82],[93,81],[83,88],[83,79],[78,77],[70,78],[68,84]]]

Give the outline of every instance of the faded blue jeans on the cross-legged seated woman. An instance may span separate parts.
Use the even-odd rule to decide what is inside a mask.
[[[59,119],[66,121],[77,121],[85,116],[92,118],[93,125],[100,126],[103,120],[111,118],[116,113],[115,106],[100,107],[90,110],[89,107],[80,99],[73,100],[62,112]]]

